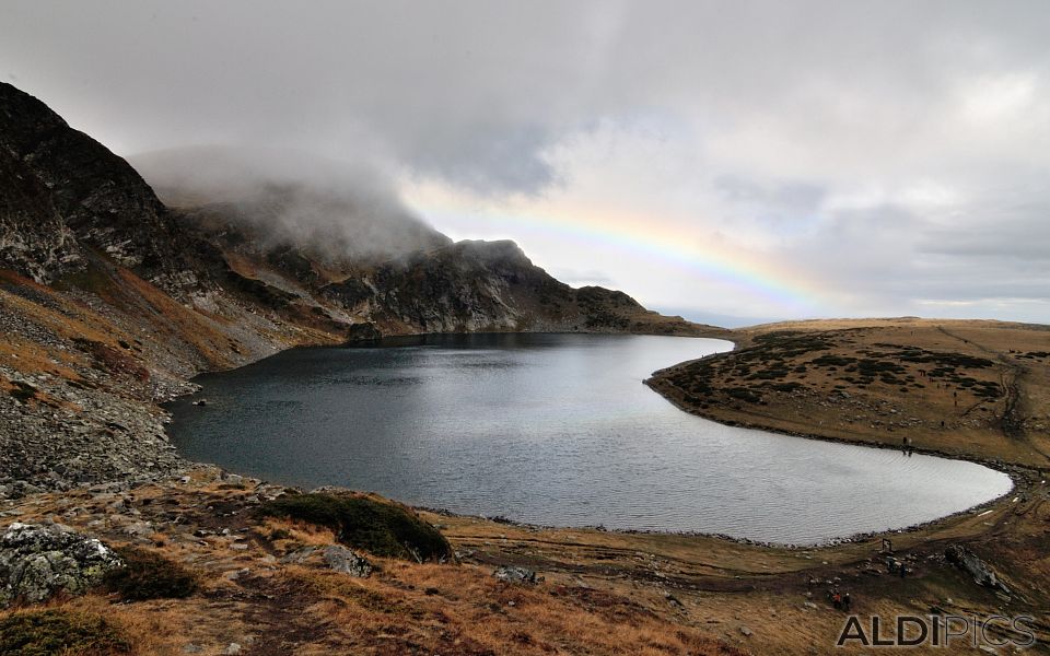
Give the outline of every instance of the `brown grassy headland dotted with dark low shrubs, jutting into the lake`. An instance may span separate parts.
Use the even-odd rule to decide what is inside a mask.
[[[738,425],[1020,465],[1050,462],[1050,332],[965,320],[794,321],[658,372],[680,407]]]

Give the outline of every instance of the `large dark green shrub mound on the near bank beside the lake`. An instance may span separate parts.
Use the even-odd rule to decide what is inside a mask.
[[[375,555],[422,561],[452,555],[436,528],[388,502],[351,494],[293,494],[268,502],[261,512],[324,526],[343,544]]]

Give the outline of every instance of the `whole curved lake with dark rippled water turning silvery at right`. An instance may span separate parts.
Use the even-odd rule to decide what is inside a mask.
[[[705,339],[436,336],[298,349],[198,378],[171,406],[188,458],[307,488],[548,525],[815,542],[934,519],[1010,490],[959,460],[773,435],[642,385]],[[208,406],[195,407],[196,398]]]

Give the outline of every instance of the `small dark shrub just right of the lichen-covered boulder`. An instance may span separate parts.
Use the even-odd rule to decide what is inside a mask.
[[[104,586],[129,601],[182,599],[197,590],[197,577],[177,562],[155,551],[119,547],[124,566],[106,575]]]

